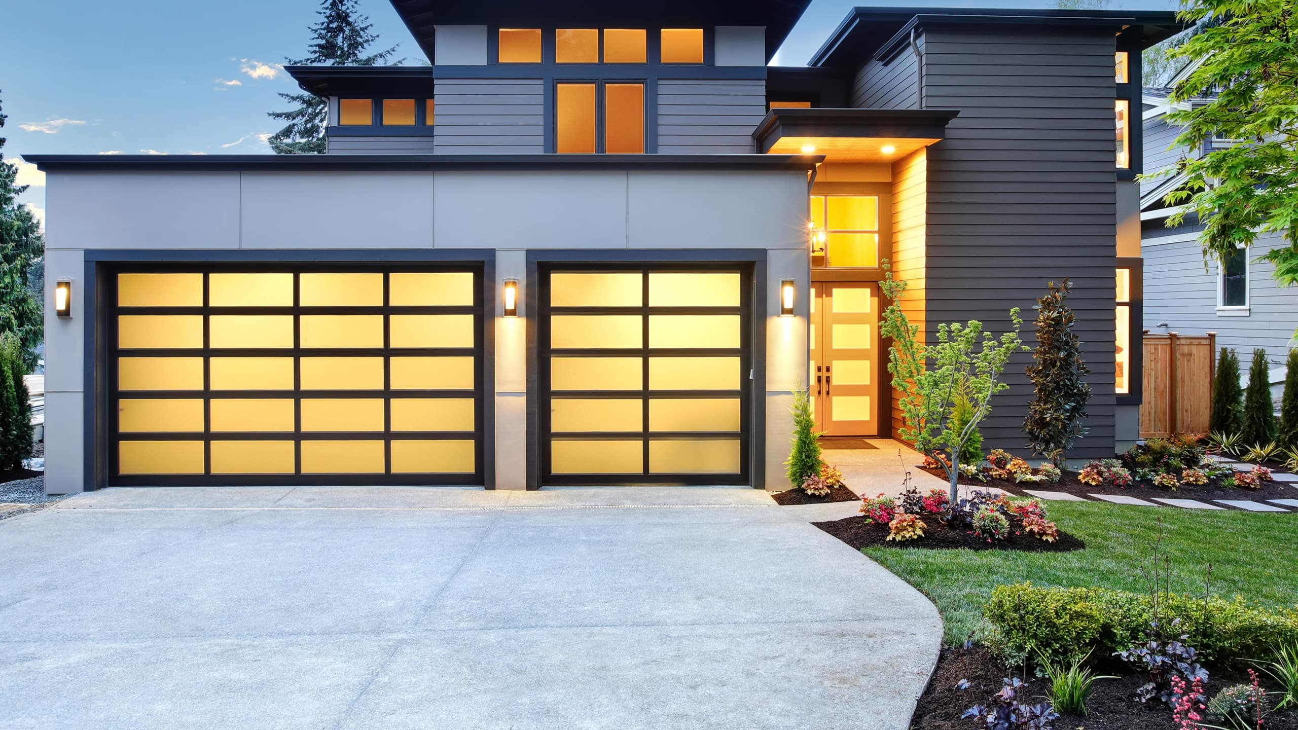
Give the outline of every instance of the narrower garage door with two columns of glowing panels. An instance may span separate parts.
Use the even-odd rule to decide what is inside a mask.
[[[543,485],[749,483],[748,271],[540,278]]]

